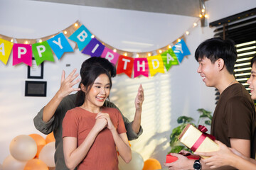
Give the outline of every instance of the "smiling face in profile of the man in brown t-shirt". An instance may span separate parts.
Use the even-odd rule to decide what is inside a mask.
[[[212,63],[207,57],[198,60],[199,67],[197,72],[203,78],[206,86],[215,87],[218,81],[218,64]]]

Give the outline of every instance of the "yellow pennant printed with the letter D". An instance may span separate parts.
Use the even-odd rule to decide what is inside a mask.
[[[164,73],[164,63],[161,58],[161,55],[155,55],[151,57],[147,57],[149,63],[149,70],[151,77],[154,76],[157,72]]]

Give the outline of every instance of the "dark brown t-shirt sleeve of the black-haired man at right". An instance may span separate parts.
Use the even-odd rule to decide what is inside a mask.
[[[228,124],[228,137],[251,140],[252,110],[243,97],[230,98],[225,113]]]

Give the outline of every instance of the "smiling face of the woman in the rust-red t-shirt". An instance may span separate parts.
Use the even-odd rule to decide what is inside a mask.
[[[110,95],[110,79],[106,74],[100,74],[92,84],[92,88],[85,95],[85,102],[90,106],[103,106]]]

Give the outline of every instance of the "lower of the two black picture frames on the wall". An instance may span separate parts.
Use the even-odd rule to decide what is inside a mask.
[[[25,81],[25,96],[46,97],[47,81]]]

